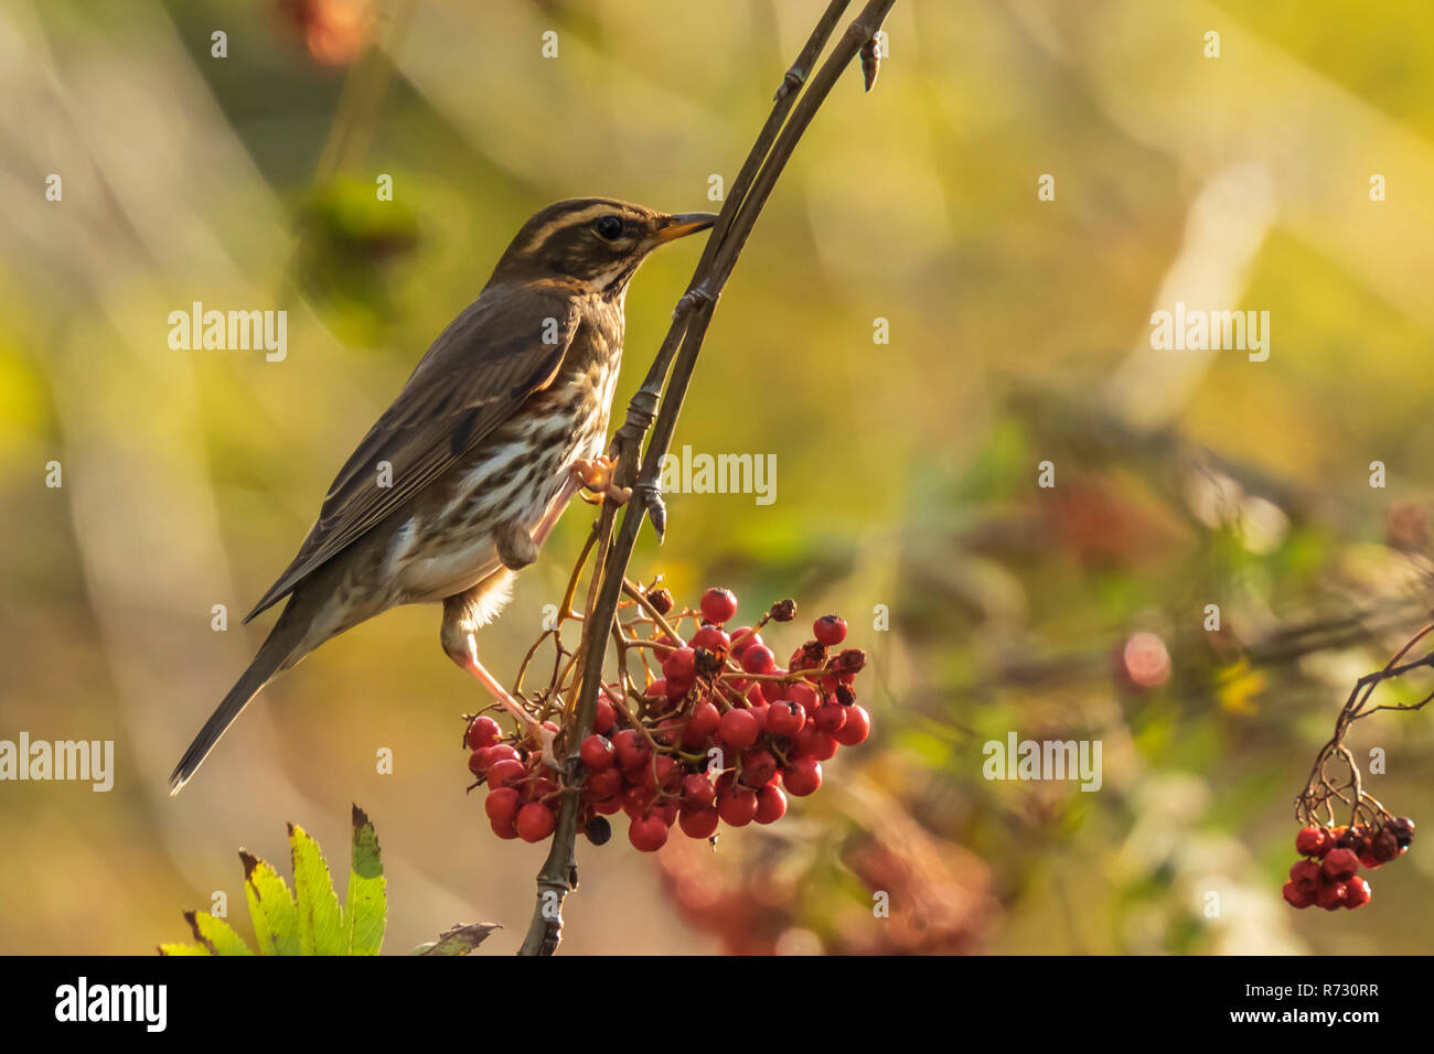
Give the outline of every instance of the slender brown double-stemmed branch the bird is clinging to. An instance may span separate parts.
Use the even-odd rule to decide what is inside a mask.
[[[697,356],[707,336],[717,298],[731,275],[737,257],[747,244],[747,237],[761,214],[777,176],[782,175],[797,142],[812,123],[817,109],[826,102],[832,86],[852,59],[862,53],[863,75],[868,87],[875,79],[875,52],[866,47],[880,29],[886,13],[896,0],[869,0],[862,13],[847,26],[836,42],[826,62],[815,77],[810,77],[817,56],[826,47],[837,22],[850,0],[830,0],[806,46],[777,87],[771,113],[767,116],[756,143],[747,155],[737,179],[733,181],[727,201],[717,224],[708,237],[707,247],[693,272],[687,293],[673,313],[673,324],[658,347],[657,357],[648,370],[642,386],[628,404],[627,419],[612,439],[612,453],[617,456],[618,486],[630,486],[632,499],[622,513],[622,525],[614,536],[617,511],[611,502],[602,508],[597,536],[599,539],[598,566],[594,569],[592,592],[584,615],[582,644],[578,652],[582,660],[582,680],[566,726],[566,759],[562,790],[562,806],[558,813],[552,849],[538,872],[538,905],[533,911],[528,936],[519,955],[552,955],[562,939],[562,901],[578,888],[575,839],[578,835],[578,796],[581,763],[578,746],[592,731],[597,714],[598,688],[602,683],[602,658],[607,638],[617,618],[622,579],[638,532],[647,516],[658,539],[667,526],[667,511],[658,488],[658,466],[667,453],[677,429],[677,416],[691,384]],[[863,53],[863,49],[865,53]],[[810,77],[810,80],[809,80]],[[803,90],[803,86],[804,90]],[[671,376],[668,371],[671,370]],[[664,379],[667,380],[664,389]],[[661,413],[658,413],[661,406]],[[655,419],[655,424],[654,424]],[[642,439],[652,427],[647,456],[638,463]]]

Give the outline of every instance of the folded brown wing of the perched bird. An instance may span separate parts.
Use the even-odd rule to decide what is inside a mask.
[[[433,341],[403,391],[338,472],[318,522],[245,622],[437,479],[535,391],[552,383],[578,330],[561,290],[480,295]],[[379,465],[391,466],[380,486]]]

